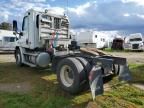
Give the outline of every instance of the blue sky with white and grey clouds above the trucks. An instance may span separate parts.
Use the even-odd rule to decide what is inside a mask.
[[[24,13],[54,9],[66,13],[74,30],[144,33],[144,0],[1,0],[0,22],[22,22]]]

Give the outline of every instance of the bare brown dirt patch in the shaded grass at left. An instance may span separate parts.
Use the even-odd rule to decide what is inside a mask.
[[[31,90],[28,82],[22,83],[0,83],[0,91],[26,93]]]

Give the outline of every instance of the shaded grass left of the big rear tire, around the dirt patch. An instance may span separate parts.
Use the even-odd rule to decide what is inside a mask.
[[[0,108],[83,108],[91,100],[90,92],[65,93],[49,69],[20,68],[15,63],[1,63],[0,67],[0,83],[29,82],[32,86],[27,93],[1,91]]]

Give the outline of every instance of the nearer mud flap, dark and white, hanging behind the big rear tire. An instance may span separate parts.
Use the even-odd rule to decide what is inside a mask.
[[[97,95],[103,94],[103,77],[100,66],[94,66],[89,74],[89,85],[93,100]]]

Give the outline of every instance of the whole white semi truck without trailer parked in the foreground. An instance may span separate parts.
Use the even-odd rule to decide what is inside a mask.
[[[103,77],[110,74],[127,79],[128,67],[125,58],[105,55],[94,50],[81,49],[69,35],[69,20],[66,15],[45,10],[28,10],[18,31],[17,21],[13,30],[19,34],[15,47],[18,66],[47,67],[56,72],[60,87],[76,94],[89,85],[92,96],[103,93]],[[124,67],[121,69],[120,67]]]

